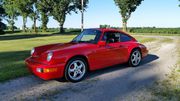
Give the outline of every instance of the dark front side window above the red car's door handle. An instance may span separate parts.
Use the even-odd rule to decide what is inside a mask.
[[[105,32],[102,40],[106,41],[107,43],[120,42],[120,33],[117,33],[117,32]]]

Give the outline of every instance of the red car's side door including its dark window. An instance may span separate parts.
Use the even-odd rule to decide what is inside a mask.
[[[91,63],[93,63],[91,64],[93,70],[116,65],[125,61],[124,55],[127,49],[125,45],[120,42],[120,33],[105,32],[102,40],[106,41],[106,45],[97,47],[90,56]]]

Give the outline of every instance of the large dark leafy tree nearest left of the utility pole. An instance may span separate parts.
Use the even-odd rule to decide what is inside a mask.
[[[75,6],[72,3],[72,0],[49,0],[52,7],[51,15],[53,18],[59,22],[60,33],[64,32],[64,22],[66,15],[71,11],[75,10]]]

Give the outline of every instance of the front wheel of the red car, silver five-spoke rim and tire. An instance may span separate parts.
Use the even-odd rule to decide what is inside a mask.
[[[87,63],[84,59],[71,59],[65,69],[65,78],[70,82],[79,82],[83,80],[87,73]]]

